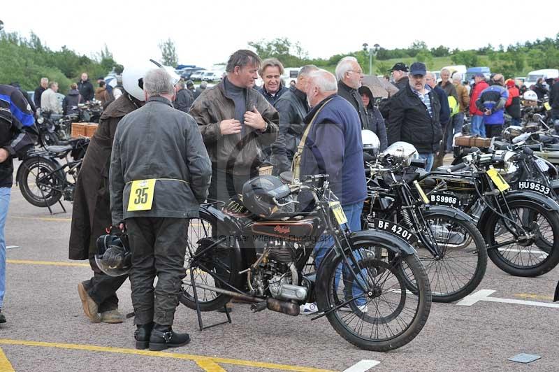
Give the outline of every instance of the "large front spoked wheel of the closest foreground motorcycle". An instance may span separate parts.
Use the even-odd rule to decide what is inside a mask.
[[[376,247],[360,248],[374,252]],[[363,257],[358,251],[354,255]],[[358,268],[353,268],[357,280],[349,269],[342,269],[344,257],[331,257],[324,262],[326,278],[321,276],[328,293],[317,292],[317,302],[321,310],[337,307],[326,317],[340,336],[364,350],[388,351],[419,334],[429,315],[431,296],[416,255],[396,257],[391,262],[365,256],[358,259]],[[407,290],[406,275],[419,290]]]

